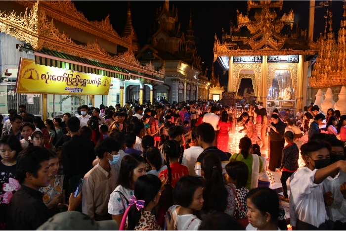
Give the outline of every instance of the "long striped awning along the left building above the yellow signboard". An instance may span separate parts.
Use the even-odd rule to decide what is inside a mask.
[[[139,80],[148,84],[163,85],[164,81],[156,77],[146,75],[137,71],[127,70],[121,67],[96,62],[86,58],[69,55],[44,48],[41,51],[35,51],[36,64],[92,73],[96,75],[108,76],[122,80]]]

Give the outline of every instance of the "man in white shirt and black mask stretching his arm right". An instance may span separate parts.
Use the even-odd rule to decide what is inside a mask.
[[[295,211],[291,225],[297,230],[333,230],[325,209],[322,182],[331,174],[346,172],[346,161],[331,164],[331,146],[321,140],[308,141],[303,147],[306,167],[297,170],[290,181],[290,208]]]

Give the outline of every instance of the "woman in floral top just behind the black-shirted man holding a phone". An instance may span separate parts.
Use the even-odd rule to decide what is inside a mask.
[[[63,203],[63,192],[62,192],[62,178],[60,175],[56,175],[59,170],[59,158],[58,155],[49,150],[49,176],[50,184],[46,187],[39,189],[43,195],[43,202],[48,208]]]

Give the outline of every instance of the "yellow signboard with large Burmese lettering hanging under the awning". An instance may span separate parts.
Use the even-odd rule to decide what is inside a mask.
[[[16,93],[41,94],[108,94],[111,77],[65,70],[36,64],[35,60],[19,61]]]

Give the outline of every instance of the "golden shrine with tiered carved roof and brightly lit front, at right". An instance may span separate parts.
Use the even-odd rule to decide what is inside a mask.
[[[293,10],[278,16],[282,5],[280,0],[249,0],[248,14],[237,10],[237,25],[231,22],[229,34],[222,29],[222,38],[215,35],[214,61],[228,71],[228,92],[241,97],[242,79],[248,78],[258,100],[288,100],[302,108],[305,56],[315,55],[317,45],[308,44]]]

